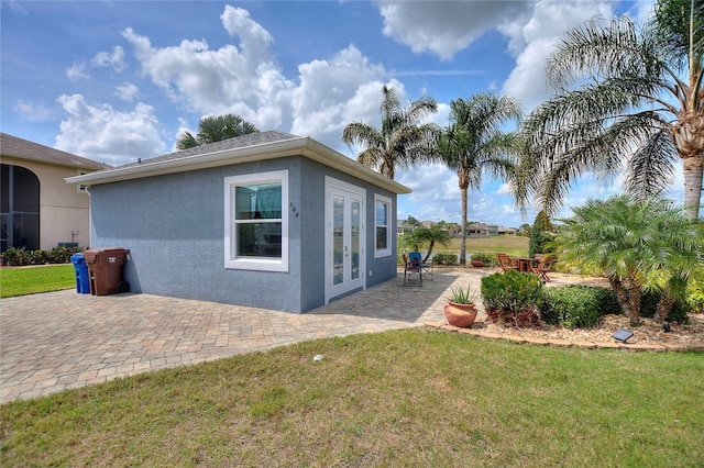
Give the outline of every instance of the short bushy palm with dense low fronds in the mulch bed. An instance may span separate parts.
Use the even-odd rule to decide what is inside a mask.
[[[559,230],[560,263],[606,277],[631,325],[639,323],[645,289],[663,292],[658,310],[660,317],[667,315],[664,307],[672,308],[672,297],[702,261],[696,224],[659,197],[622,194],[573,211]]]

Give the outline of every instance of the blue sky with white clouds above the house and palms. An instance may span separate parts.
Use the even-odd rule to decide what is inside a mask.
[[[1,129],[111,165],[169,153],[202,115],[310,136],[354,157],[344,125],[378,125],[381,88],[449,103],[483,91],[525,112],[549,89],[556,41],[594,16],[641,18],[651,1],[2,1]],[[678,174],[680,174],[679,171]],[[397,171],[398,218],[460,220],[457,176]],[[617,190],[585,177],[566,204]],[[674,183],[673,197],[682,191]],[[569,214],[565,211],[564,214]],[[503,181],[470,193],[471,220],[532,223]]]

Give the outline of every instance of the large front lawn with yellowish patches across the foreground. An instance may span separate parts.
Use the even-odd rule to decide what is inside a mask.
[[[702,357],[321,339],[6,403],[0,465],[702,466]]]

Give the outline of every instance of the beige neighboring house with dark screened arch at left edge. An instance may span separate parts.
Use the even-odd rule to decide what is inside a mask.
[[[66,177],[105,169],[94,160],[0,133],[0,252],[89,246],[89,198]]]

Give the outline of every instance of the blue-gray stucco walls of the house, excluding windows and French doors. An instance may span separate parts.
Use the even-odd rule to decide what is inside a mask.
[[[288,272],[226,269],[223,179],[280,169],[289,183]],[[374,193],[394,200],[393,222],[395,194],[302,157],[94,186],[91,248],[130,249],[124,279],[134,292],[304,312],[324,302],[326,174],[366,189],[367,287],[395,278],[395,255],[375,259],[373,250]]]

